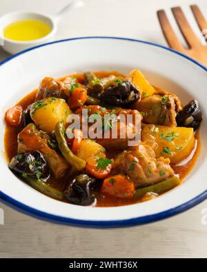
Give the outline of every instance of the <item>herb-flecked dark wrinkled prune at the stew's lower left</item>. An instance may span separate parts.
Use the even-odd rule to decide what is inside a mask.
[[[15,174],[23,178],[48,180],[50,177],[48,164],[39,151],[14,156],[9,167]]]

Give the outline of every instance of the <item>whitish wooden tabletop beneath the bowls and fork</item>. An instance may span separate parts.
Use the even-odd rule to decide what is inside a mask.
[[[55,14],[68,0],[0,0],[0,16],[14,10]],[[54,2],[54,3],[53,3]],[[206,12],[206,0],[194,1]],[[74,36],[128,36],[166,45],[155,14],[160,8],[182,6],[199,34],[188,9],[189,0],[87,0],[59,24],[56,39]],[[201,36],[201,35],[200,35]],[[0,61],[8,54],[0,50]],[[3,92],[3,90],[1,90]],[[0,258],[206,258],[207,201],[186,213],[139,227],[83,229],[52,224],[26,216],[0,203]]]

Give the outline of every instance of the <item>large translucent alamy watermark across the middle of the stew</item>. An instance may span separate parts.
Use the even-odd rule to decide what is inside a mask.
[[[88,114],[88,109],[81,109],[79,114],[70,114],[67,118],[68,139],[77,138],[77,131],[82,132],[83,138],[99,139],[126,139],[128,146],[137,146],[141,140],[141,115],[137,111],[115,110]]]

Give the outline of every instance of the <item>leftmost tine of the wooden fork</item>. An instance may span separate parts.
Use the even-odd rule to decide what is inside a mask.
[[[164,36],[166,37],[166,41],[168,42],[170,48],[174,48],[175,50],[184,52],[183,46],[177,39],[177,36],[173,31],[172,26],[170,25],[166,12],[164,10],[159,10],[157,12],[157,16],[161,25],[161,30],[164,33]]]

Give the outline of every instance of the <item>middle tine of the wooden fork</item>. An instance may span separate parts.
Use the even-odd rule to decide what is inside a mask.
[[[190,27],[184,15],[184,12],[181,10],[181,8],[179,7],[172,8],[172,13],[189,47],[192,48],[193,46],[201,45],[199,39],[197,38],[192,28]]]

